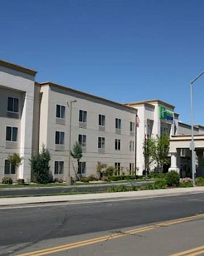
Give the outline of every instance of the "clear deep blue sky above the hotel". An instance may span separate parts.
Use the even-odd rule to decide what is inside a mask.
[[[117,102],[161,99],[190,119],[204,70],[203,0],[1,0],[0,58]],[[204,76],[194,123],[204,125]]]

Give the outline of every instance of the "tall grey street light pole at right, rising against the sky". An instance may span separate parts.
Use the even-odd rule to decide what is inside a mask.
[[[194,156],[194,129],[193,129],[193,83],[204,74],[204,71],[201,72],[193,81],[191,81],[191,165],[192,165],[192,179],[193,186],[195,184],[195,156]]]

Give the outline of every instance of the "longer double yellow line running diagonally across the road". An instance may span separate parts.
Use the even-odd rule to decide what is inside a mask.
[[[164,222],[161,222],[161,223],[157,223],[156,225],[150,225],[150,226],[146,226],[146,227],[142,227],[142,228],[135,228],[133,230],[126,230],[124,232],[117,233],[117,234],[112,234],[112,235],[107,235],[107,236],[102,236],[102,237],[96,237],[96,238],[93,238],[93,239],[88,239],[88,240],[79,241],[79,242],[70,243],[70,244],[64,244],[64,245],[61,245],[61,246],[55,246],[55,247],[46,248],[46,249],[43,249],[43,250],[34,251],[34,252],[22,253],[22,254],[18,254],[17,256],[42,256],[42,255],[47,255],[47,254],[50,254],[50,253],[61,252],[61,251],[64,251],[64,250],[73,249],[73,248],[77,248],[77,247],[81,247],[81,246],[86,246],[86,245],[89,245],[89,244],[99,243],[101,241],[116,239],[116,238],[119,238],[119,237],[122,237],[122,236],[127,236],[128,234],[136,234],[136,233],[139,233],[139,232],[145,232],[145,231],[153,230],[155,228],[166,227],[166,226],[169,226],[169,225],[174,225],[174,224],[178,224],[178,223],[182,223],[182,222],[186,222],[186,221],[190,221],[190,220],[195,220],[195,219],[201,219],[201,218],[204,218],[204,214],[199,214],[199,215],[190,216],[190,217],[186,217],[186,218],[180,218],[180,219],[177,219],[177,220],[164,221]],[[171,256],[176,256],[176,255],[171,255]],[[179,256],[179,255],[177,255],[177,256]]]

